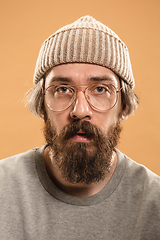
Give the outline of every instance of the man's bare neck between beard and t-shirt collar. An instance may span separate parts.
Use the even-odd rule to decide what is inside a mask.
[[[44,150],[44,161],[50,179],[60,190],[75,197],[89,197],[100,192],[112,178],[117,166],[117,154],[115,151],[113,151],[110,171],[107,172],[106,177],[99,182],[91,184],[73,184],[70,183],[68,180],[64,179],[62,177],[60,169],[51,159],[48,147]]]

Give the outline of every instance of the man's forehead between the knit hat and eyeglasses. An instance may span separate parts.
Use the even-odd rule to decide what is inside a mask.
[[[45,84],[68,82],[72,85],[87,85],[93,81],[108,81],[119,87],[119,77],[110,69],[95,64],[68,63],[51,68],[45,75]]]

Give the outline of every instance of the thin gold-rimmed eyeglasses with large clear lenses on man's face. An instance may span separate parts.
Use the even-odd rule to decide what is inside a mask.
[[[82,87],[82,86],[80,86]],[[122,89],[122,88],[121,88]],[[89,105],[98,111],[107,111],[113,108],[118,100],[117,90],[112,84],[94,84],[84,90],[70,85],[51,85],[43,90],[47,106],[55,112],[69,108],[76,100],[77,92],[82,91]]]

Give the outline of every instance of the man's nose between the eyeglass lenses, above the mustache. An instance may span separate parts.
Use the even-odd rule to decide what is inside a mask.
[[[76,100],[73,104],[73,109],[70,112],[71,118],[85,120],[91,119],[92,109],[89,106],[83,91],[77,92]]]

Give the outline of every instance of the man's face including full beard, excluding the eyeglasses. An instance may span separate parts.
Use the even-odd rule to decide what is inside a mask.
[[[46,74],[45,88],[63,84],[83,90],[95,84],[95,79],[120,89],[119,79],[111,70],[78,63],[53,67]],[[108,111],[92,108],[83,91],[78,91],[73,104],[61,112],[48,107],[47,97],[44,103],[45,137],[50,145],[52,161],[58,165],[63,177],[72,183],[85,184],[104,179],[121,131],[120,93],[116,105]]]

